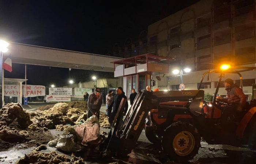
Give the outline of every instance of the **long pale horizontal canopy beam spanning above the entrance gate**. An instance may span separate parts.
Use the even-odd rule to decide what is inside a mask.
[[[110,62],[123,59],[20,43],[11,43],[9,49],[7,54],[11,54],[13,63],[71,69],[113,72]]]

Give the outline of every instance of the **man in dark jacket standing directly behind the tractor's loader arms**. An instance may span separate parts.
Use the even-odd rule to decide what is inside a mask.
[[[123,88],[122,87],[118,87],[116,89],[116,95],[114,95],[113,101],[112,101],[112,103],[108,107],[108,111],[111,112],[110,116],[109,116],[109,124],[110,125],[112,125],[112,123],[114,121],[114,117],[116,116],[116,113],[117,113],[118,107],[119,107],[119,105],[120,105],[120,103],[122,101],[122,98],[126,99],[125,109],[124,109],[124,112],[126,113],[127,110],[128,110],[127,97],[125,96]],[[112,110],[112,107],[113,107],[113,110]]]

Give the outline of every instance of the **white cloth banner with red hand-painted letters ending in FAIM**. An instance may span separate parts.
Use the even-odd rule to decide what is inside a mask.
[[[27,97],[45,96],[45,86],[42,85],[27,85]],[[25,93],[25,85],[22,85],[22,95]],[[20,95],[19,85],[4,85],[4,95],[18,97]]]

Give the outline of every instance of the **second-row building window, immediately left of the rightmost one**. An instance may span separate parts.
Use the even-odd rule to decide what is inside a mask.
[[[230,29],[218,31],[214,33],[214,45],[223,44],[231,41]]]

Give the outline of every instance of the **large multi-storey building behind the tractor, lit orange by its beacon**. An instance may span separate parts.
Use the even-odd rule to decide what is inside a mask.
[[[116,48],[115,53],[125,58],[144,53],[174,58],[171,64],[192,69],[183,76],[183,83],[187,89],[196,89],[203,72],[220,63],[256,65],[255,4],[255,0],[201,0],[149,25],[137,42],[127,40],[125,48]],[[242,75],[244,93],[251,99],[256,72]],[[180,79],[172,70],[165,77],[167,82],[158,82],[156,87],[178,89]],[[238,76],[227,77],[239,82]],[[204,81],[206,93],[214,92],[217,80],[217,75],[211,75]],[[226,94],[223,86],[219,93]]]

